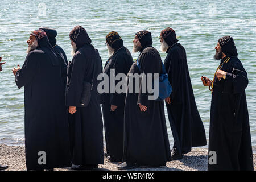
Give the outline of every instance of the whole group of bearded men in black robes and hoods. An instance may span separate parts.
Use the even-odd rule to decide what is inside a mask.
[[[119,162],[117,168],[122,170],[140,165],[166,166],[170,160],[183,158],[192,147],[207,145],[186,52],[172,28],[165,28],[160,33],[160,49],[167,53],[164,68],[172,86],[170,97],[165,99],[174,137],[172,150],[164,101],[149,100],[149,93],[141,90],[141,80],[138,85],[133,82],[134,90],[127,90],[127,93],[100,94],[97,90],[98,75],[105,73],[110,77],[111,69],[115,71],[114,76],[125,74],[127,85],[133,79],[130,75],[163,73],[160,54],[152,46],[151,32],[143,30],[135,34],[133,52],[139,52],[136,61],[123,46],[121,36],[110,32],[105,43],[110,57],[104,68],[83,27],[76,26],[69,34],[73,48],[73,59],[69,62],[63,49],[56,44],[56,35],[56,30],[45,27],[31,32],[23,67],[13,68],[16,85],[18,88],[24,86],[28,170],[70,167],[72,164],[71,169],[97,169],[98,164],[104,164],[104,155],[110,162]],[[237,58],[232,37],[218,40],[214,59],[221,63],[213,81],[201,77],[203,84],[212,91],[209,152],[217,154],[217,163],[208,163],[208,169],[253,170],[245,96],[248,79]],[[91,94],[85,96],[85,99],[89,97],[89,102],[84,106],[81,97],[84,97],[84,85],[88,82]],[[116,84],[115,81],[114,86]],[[43,164],[39,162],[40,151],[46,154]]]

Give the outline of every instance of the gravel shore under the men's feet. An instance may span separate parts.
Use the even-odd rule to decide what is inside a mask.
[[[7,146],[0,144],[0,164],[8,165],[9,171],[26,170],[25,164],[25,147]],[[184,155],[183,159],[167,162],[165,167],[147,167],[131,169],[134,171],[205,171],[207,170],[207,148],[193,148],[191,152]],[[253,154],[254,170],[256,170],[256,154]],[[100,170],[117,170],[118,163],[112,163],[108,160],[104,161],[104,165],[100,164]],[[69,170],[69,168],[55,168],[55,170]]]

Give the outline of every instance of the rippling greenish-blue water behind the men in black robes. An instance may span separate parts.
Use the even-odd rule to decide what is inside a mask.
[[[43,2],[43,3],[42,3]],[[248,76],[246,89],[251,139],[256,147],[256,3],[255,1],[1,1],[0,55],[7,63],[0,73],[0,143],[24,144],[23,88],[15,85],[11,68],[22,65],[26,40],[41,26],[56,28],[57,43],[72,59],[69,32],[80,24],[99,50],[103,64],[108,59],[105,36],[117,31],[132,49],[135,32],[152,32],[153,46],[160,51],[160,31],[172,27],[187,51],[191,81],[207,139],[211,95],[200,77],[213,78],[218,61],[213,60],[218,38],[233,36],[238,57]],[[138,53],[133,54],[136,59]],[[161,53],[164,60],[166,53]],[[50,104],[50,103],[49,103]],[[47,113],[46,113],[47,114]],[[170,144],[173,139],[166,112]]]

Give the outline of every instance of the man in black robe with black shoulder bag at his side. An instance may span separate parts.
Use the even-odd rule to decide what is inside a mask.
[[[94,169],[104,163],[103,122],[100,94],[97,92],[97,76],[102,73],[102,61],[84,28],[74,27],[69,37],[75,55],[68,65],[66,105],[70,113],[72,163],[80,165],[72,169]],[[81,104],[82,92],[87,88],[84,87],[85,82],[92,85],[87,106]]]

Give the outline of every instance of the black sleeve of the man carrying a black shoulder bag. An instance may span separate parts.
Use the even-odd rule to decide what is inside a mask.
[[[78,106],[82,93],[82,82],[85,75],[85,59],[81,53],[76,53],[72,59],[71,76],[67,83],[66,106]]]

